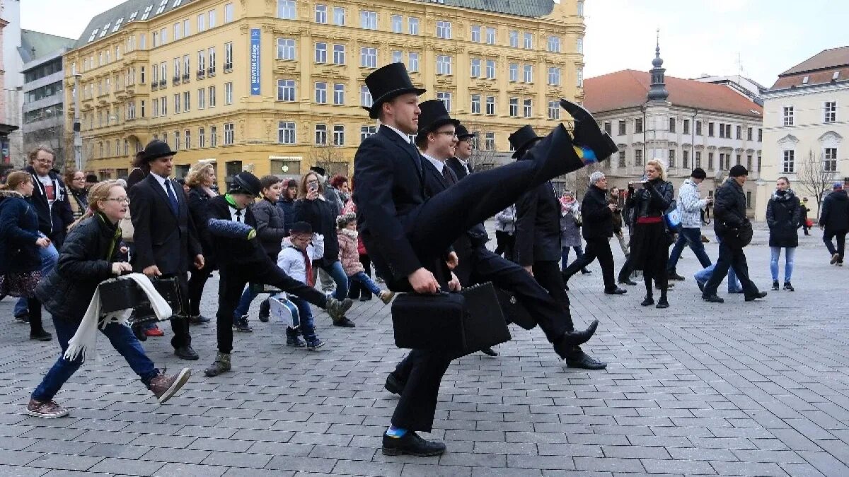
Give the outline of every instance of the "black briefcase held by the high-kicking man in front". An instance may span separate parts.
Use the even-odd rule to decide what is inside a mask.
[[[391,311],[399,348],[463,356],[510,340],[492,283],[452,294],[401,294]]]

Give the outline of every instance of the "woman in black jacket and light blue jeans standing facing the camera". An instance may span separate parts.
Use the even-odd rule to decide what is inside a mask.
[[[775,181],[775,192],[767,202],[769,271],[773,274],[773,290],[779,289],[779,258],[781,249],[784,249],[784,289],[794,291],[790,278],[793,276],[796,247],[799,246],[801,209],[799,198],[790,189],[790,179],[779,177]]]

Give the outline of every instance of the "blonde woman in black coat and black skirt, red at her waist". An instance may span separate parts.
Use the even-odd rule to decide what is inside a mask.
[[[666,289],[668,277],[666,262],[669,261],[671,233],[666,230],[664,213],[672,205],[672,182],[666,181],[666,169],[661,160],[653,159],[645,165],[646,180],[642,188],[628,183],[628,208],[633,210],[634,227],[631,239],[631,256],[628,259],[632,270],[642,270],[645,282],[645,299],[640,305],[655,304],[652,294],[652,279],[661,289],[658,308],[668,308]]]

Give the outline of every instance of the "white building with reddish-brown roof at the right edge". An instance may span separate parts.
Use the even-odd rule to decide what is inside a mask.
[[[763,179],[759,195],[768,199],[776,178],[808,197],[818,214],[820,191],[833,182],[849,184],[849,47],[815,54],[779,75],[764,98]],[[766,215],[759,200],[757,217]]]

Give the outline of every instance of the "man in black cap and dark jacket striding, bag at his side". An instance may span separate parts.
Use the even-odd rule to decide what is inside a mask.
[[[717,288],[728,274],[728,267],[734,268],[734,273],[743,284],[746,301],[767,296],[767,292],[758,291],[755,283],[752,283],[749,278],[749,266],[746,265],[743,253],[743,248],[748,244],[748,240],[751,240],[751,222],[745,215],[743,192],[743,184],[749,176],[749,171],[738,164],[731,168],[728,176],[722,186],[717,188],[716,202],[713,206],[713,230],[720,239],[719,259],[701,295],[702,300],[712,303],[725,301],[717,296]],[[746,233],[750,234],[748,238],[745,237]]]

